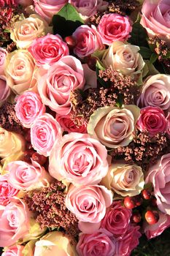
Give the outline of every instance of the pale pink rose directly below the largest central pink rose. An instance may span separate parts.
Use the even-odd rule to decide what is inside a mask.
[[[83,233],[93,233],[96,226],[100,227],[111,204],[112,192],[104,186],[71,187],[66,195],[66,208],[80,220],[79,228]]]

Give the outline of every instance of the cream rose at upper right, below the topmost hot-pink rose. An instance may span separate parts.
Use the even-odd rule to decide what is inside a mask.
[[[104,53],[102,61],[106,67],[112,67],[123,75],[139,74],[144,67],[144,60],[139,53],[139,46],[117,41]]]

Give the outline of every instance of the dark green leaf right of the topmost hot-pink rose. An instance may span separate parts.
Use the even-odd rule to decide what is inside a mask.
[[[139,17],[132,26],[131,37],[128,39],[131,45],[146,46],[147,47],[147,31],[142,27]]]

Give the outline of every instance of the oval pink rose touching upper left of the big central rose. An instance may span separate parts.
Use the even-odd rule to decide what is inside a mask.
[[[55,141],[62,136],[62,129],[58,121],[50,114],[43,114],[31,124],[31,144],[33,148],[45,157],[50,156]]]

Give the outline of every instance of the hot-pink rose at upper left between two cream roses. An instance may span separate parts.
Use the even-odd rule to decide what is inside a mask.
[[[66,42],[63,42],[61,36],[54,34],[47,34],[45,37],[34,39],[28,51],[35,59],[37,66],[52,65],[59,61],[61,57],[69,55]]]

